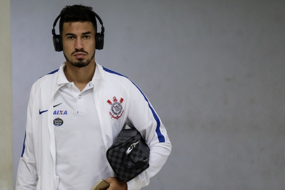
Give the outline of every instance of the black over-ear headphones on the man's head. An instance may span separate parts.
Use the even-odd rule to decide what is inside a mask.
[[[84,8],[86,9],[86,8]],[[101,33],[96,33],[95,35],[95,42],[96,42],[96,49],[103,49],[103,46],[104,46],[104,26],[103,26],[103,22],[101,20],[101,18],[99,17],[99,15],[97,15],[94,11],[92,10],[89,10],[89,9],[86,9],[90,12],[93,13],[93,15],[98,19],[98,21],[100,22],[101,24]],[[58,15],[58,17],[55,19],[55,22],[53,23],[53,29],[51,30],[51,33],[52,33],[52,40],[53,40],[53,45],[55,47],[55,51],[57,52],[61,52],[63,50],[62,48],[62,38],[61,38],[61,35],[57,35],[55,34],[55,25],[56,25],[56,22],[58,21],[58,19],[64,14],[65,12],[62,12],[60,15]]]

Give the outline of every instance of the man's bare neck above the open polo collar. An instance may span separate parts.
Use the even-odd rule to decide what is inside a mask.
[[[83,88],[91,81],[95,72],[95,60],[92,60],[85,67],[75,67],[66,61],[66,67],[64,74],[69,82],[73,82],[74,85],[82,91]]]

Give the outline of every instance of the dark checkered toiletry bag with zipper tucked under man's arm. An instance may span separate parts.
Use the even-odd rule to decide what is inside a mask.
[[[135,129],[123,129],[107,150],[106,156],[115,174],[124,182],[149,167],[149,148]]]

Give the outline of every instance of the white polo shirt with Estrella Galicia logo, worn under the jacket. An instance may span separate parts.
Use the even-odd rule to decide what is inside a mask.
[[[93,96],[97,70],[81,92],[68,82],[63,69],[58,71],[58,84],[65,84],[55,94],[52,121],[58,190],[89,190],[111,176]]]

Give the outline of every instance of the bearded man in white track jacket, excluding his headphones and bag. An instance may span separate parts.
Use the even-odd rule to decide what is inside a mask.
[[[91,7],[66,6],[59,28],[66,62],[31,88],[16,189],[85,190],[100,179],[111,184],[108,190],[141,189],[171,152],[164,125],[131,80],[95,62]],[[150,167],[122,182],[106,151],[126,125],[146,140]]]

